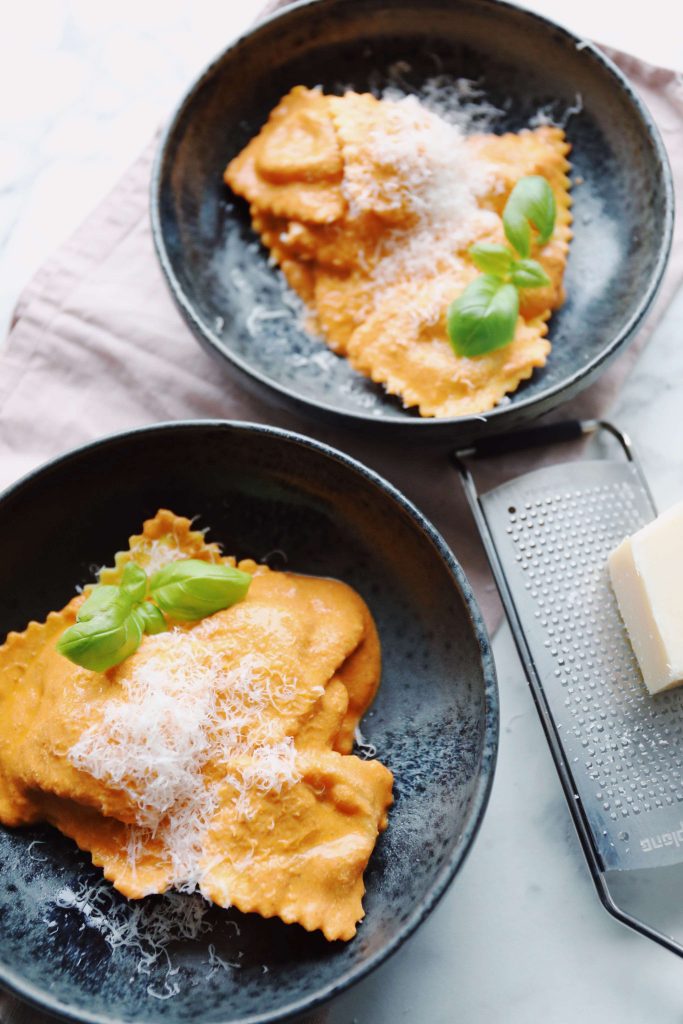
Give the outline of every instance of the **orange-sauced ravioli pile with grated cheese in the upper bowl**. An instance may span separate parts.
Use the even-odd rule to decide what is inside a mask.
[[[314,128],[302,133],[305,117]],[[555,127],[464,137],[415,97],[296,86],[224,179],[249,201],[254,229],[306,303],[312,332],[422,416],[473,416],[550,353],[548,319],[564,301],[571,238],[568,152]],[[548,180],[557,204],[552,238],[530,253],[551,284],[520,293],[510,345],[458,356],[445,313],[478,273],[468,250],[505,242],[503,208],[530,174]]]

